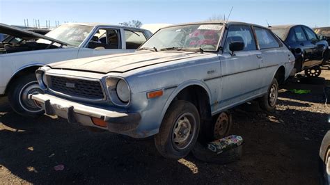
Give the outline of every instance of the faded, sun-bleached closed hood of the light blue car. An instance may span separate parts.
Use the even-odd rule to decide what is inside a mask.
[[[59,63],[52,63],[48,66],[52,69],[80,70],[107,74],[109,72],[127,72],[149,65],[156,65],[159,63],[166,63],[203,55],[205,54],[188,51],[136,51],[130,54],[113,54],[108,56],[80,58]]]

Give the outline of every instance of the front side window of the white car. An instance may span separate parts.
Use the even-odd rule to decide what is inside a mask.
[[[88,42],[88,48],[119,49],[120,35],[116,29],[99,29]]]

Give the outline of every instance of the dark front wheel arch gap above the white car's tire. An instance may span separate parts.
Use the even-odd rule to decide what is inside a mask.
[[[11,86],[11,84],[13,84],[13,82],[18,79],[18,77],[21,77],[21,75],[24,74],[30,74],[30,73],[34,73],[36,72],[36,70],[38,70],[39,67],[44,66],[45,64],[43,63],[33,63],[33,64],[29,64],[29,65],[24,65],[23,67],[20,67],[18,70],[16,70],[16,72],[13,73],[13,75],[10,77],[10,80],[8,81],[7,85],[6,85],[6,89],[5,89],[5,94],[8,94],[8,90]]]

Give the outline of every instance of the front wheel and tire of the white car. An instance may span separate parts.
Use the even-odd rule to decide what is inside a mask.
[[[38,89],[37,89],[38,88]],[[30,90],[29,90],[30,89]],[[33,92],[41,93],[36,74],[27,74],[15,79],[13,84],[10,84],[8,90],[8,100],[10,106],[19,115],[36,117],[42,115],[44,111],[38,108],[31,99],[27,99],[27,95]]]

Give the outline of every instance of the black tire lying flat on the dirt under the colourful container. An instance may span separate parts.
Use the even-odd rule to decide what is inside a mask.
[[[191,153],[196,159],[207,163],[225,164],[237,161],[242,157],[243,145],[239,145],[221,154],[216,154],[207,149],[207,147],[196,143]]]

